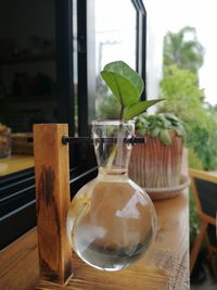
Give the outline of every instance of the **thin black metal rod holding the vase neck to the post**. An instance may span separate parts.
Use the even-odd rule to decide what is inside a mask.
[[[99,142],[105,142],[105,143],[113,143],[115,140],[117,140],[116,137],[107,137],[107,138],[97,138]],[[63,144],[73,143],[73,144],[79,144],[79,143],[93,143],[93,139],[91,137],[68,137],[63,136],[62,137]],[[131,143],[133,144],[142,144],[145,143],[145,137],[130,137],[130,138],[124,138],[125,143]]]

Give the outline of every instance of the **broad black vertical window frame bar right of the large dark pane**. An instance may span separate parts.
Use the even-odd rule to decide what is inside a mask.
[[[75,134],[75,94],[73,72],[73,2],[55,0],[58,119],[68,123],[69,135]]]

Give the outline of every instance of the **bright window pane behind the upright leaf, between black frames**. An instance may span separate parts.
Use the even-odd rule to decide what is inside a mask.
[[[95,0],[95,115],[116,118],[119,108],[106,89],[100,72],[112,61],[123,60],[136,70],[137,12],[130,0]]]

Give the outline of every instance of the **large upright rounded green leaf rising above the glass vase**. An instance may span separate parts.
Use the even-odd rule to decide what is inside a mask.
[[[142,78],[123,61],[104,66],[101,76],[105,84],[125,108],[139,101],[144,84]]]

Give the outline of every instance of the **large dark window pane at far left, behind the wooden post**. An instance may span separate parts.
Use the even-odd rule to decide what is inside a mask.
[[[0,2],[0,176],[31,167],[33,124],[56,122],[54,4]]]

